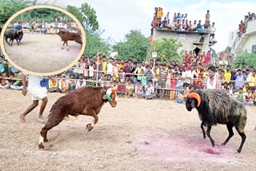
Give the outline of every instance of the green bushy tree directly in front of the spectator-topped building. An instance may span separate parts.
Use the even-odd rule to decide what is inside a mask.
[[[182,53],[178,53],[178,48],[182,44],[174,38],[162,38],[161,41],[154,42],[154,46],[150,48],[150,54],[156,50],[158,52],[158,59],[168,62],[182,62]]]

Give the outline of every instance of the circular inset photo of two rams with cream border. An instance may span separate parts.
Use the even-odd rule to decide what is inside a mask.
[[[86,47],[78,19],[62,8],[30,6],[18,11],[3,26],[2,53],[27,74],[50,76],[74,66]]]

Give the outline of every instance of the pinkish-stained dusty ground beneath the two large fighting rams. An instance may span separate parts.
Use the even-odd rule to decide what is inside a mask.
[[[236,153],[241,138],[234,137],[226,147],[220,143],[228,135],[225,125],[212,129],[217,142],[202,138],[195,110],[173,101],[146,101],[118,98],[117,107],[102,107],[98,124],[86,133],[91,117],[62,121],[49,132],[54,145],[38,149],[43,124],[37,120],[38,109],[19,122],[19,115],[30,105],[30,95],[0,89],[0,170],[255,170],[256,108],[246,107],[246,143]],[[47,115],[60,93],[49,93]]]

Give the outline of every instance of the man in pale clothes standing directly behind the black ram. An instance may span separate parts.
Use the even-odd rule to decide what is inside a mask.
[[[222,89],[222,83],[216,76],[215,66],[208,67],[208,78],[206,79],[206,85],[204,89]]]

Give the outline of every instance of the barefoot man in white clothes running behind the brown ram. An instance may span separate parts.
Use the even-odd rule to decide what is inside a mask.
[[[26,89],[26,78],[28,78],[28,86]],[[42,117],[42,113],[44,109],[46,109],[47,105],[47,89],[45,87],[41,87],[40,81],[42,80],[42,77],[30,75],[30,74],[22,74],[22,95],[26,96],[26,91],[28,90],[29,93],[32,96],[32,105],[30,105],[24,113],[20,116],[20,120],[25,123],[25,117],[28,113],[30,113],[34,108],[38,106],[38,101],[42,100],[42,105],[38,114],[39,121],[44,121],[44,118]]]

